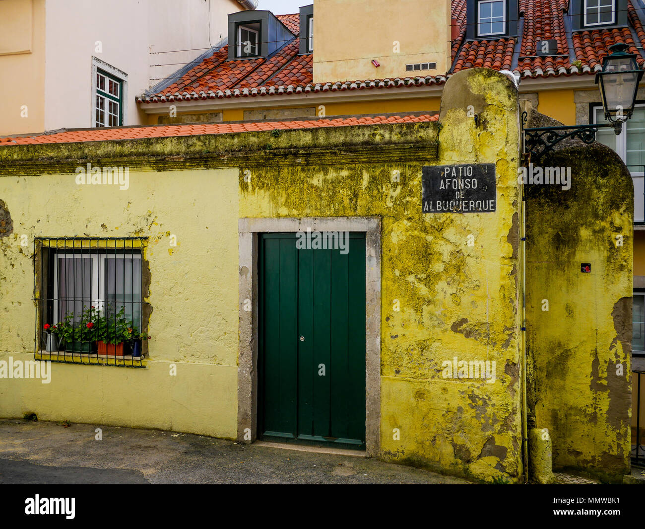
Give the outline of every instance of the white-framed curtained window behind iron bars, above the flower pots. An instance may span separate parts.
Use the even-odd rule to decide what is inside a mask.
[[[57,252],[53,284],[54,322],[69,313],[79,321],[90,306],[107,317],[124,307],[126,320],[141,329],[140,253]]]

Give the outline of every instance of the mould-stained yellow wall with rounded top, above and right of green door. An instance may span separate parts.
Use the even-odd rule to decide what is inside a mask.
[[[332,156],[323,167],[252,167],[251,185],[240,180],[239,213],[380,216],[381,457],[517,479],[517,92],[501,74],[478,69],[454,76],[444,94],[438,160]],[[466,117],[468,105],[485,126]],[[422,165],[453,163],[495,163],[496,213],[421,213]],[[392,182],[393,171],[401,182]],[[496,382],[442,378],[442,362],[455,356],[495,360]]]

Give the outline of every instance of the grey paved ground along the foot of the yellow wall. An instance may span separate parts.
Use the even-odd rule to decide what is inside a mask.
[[[468,483],[366,457],[283,450],[201,435],[0,420],[0,484]]]

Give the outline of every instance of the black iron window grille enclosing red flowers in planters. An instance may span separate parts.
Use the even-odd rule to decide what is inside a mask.
[[[144,367],[146,240],[34,239],[37,360]]]

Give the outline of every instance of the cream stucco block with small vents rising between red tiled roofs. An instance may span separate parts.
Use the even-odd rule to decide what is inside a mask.
[[[443,75],[450,68],[450,17],[443,0],[316,0],[313,82]],[[437,68],[406,72],[406,64],[427,62]]]

